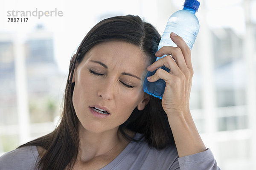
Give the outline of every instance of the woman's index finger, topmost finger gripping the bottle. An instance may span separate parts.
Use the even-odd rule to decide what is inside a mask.
[[[191,62],[191,51],[189,49],[189,46],[186,45],[186,42],[177,34],[171,33],[170,37],[175,44],[177,44],[177,47],[179,47],[183,53],[186,65],[189,69],[192,69],[192,62]]]

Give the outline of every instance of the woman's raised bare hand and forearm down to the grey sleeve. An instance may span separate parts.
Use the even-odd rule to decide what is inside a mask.
[[[148,71],[158,68],[148,81],[155,82],[158,79],[163,79],[166,83],[162,106],[172,129],[178,155],[183,157],[203,152],[206,147],[189,111],[189,96],[194,74],[190,49],[181,37],[175,36],[173,33],[170,37],[177,47],[163,46],[157,51],[157,57],[162,57],[164,54],[167,56],[158,59],[147,68]],[[173,59],[169,56],[170,54]],[[170,71],[167,72],[160,68],[163,65]]]

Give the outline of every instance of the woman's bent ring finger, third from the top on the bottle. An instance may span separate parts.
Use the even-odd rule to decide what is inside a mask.
[[[179,75],[179,74],[182,73],[180,68],[178,67],[178,65],[174,61],[174,59],[169,55],[167,55],[166,57],[163,57],[161,59],[158,59],[156,62],[151,64],[150,67],[148,67],[147,69],[148,69],[148,71],[152,72],[152,71],[156,70],[157,68],[162,67],[163,65],[166,68],[169,68],[170,73],[172,73],[172,74]]]

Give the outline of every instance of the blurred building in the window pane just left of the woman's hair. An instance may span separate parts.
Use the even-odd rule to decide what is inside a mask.
[[[53,34],[37,26],[27,35],[25,49],[30,122],[52,122],[59,115],[57,102],[64,91],[64,75],[54,58]]]

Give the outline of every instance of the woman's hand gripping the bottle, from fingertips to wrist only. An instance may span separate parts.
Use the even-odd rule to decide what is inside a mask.
[[[147,68],[151,72],[158,68],[156,73],[148,79],[149,82],[155,82],[158,79],[163,79],[166,82],[162,106],[167,114],[189,111],[189,96],[193,76],[188,45],[180,36],[174,33],[171,33],[170,37],[177,44],[177,47],[164,46],[155,55],[157,57],[162,57],[164,54],[172,55],[173,59],[171,56],[163,57]],[[163,65],[170,69],[169,73],[160,68]]]

